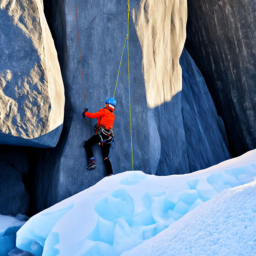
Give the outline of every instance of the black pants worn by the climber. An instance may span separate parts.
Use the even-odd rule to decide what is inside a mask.
[[[87,154],[87,160],[93,157],[92,153],[92,146],[96,143],[100,143],[100,136],[98,134],[93,135],[89,140],[85,141],[84,148]],[[110,149],[111,143],[100,143],[100,149],[101,153],[104,159],[104,163],[106,165],[106,171],[107,175],[113,174],[112,165],[111,162],[108,159],[109,149]]]

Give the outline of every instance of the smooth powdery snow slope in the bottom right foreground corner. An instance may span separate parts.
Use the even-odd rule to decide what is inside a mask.
[[[122,254],[131,255],[256,255],[256,182],[222,191]]]

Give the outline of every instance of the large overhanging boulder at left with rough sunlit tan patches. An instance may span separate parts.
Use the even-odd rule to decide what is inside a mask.
[[[54,147],[65,99],[42,2],[1,0],[0,17],[0,144]]]

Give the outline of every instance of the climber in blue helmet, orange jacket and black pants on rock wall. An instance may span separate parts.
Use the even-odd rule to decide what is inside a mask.
[[[108,154],[114,137],[113,123],[115,120],[115,115],[113,112],[115,107],[116,100],[109,98],[106,100],[105,108],[101,108],[98,112],[89,113],[87,108],[83,112],[83,117],[87,116],[89,118],[97,118],[98,121],[98,123],[94,125],[95,134],[89,140],[85,141],[84,144],[88,160],[88,165],[86,168],[89,170],[95,168],[92,146],[99,143],[104,163],[106,165],[107,176],[113,175]]]

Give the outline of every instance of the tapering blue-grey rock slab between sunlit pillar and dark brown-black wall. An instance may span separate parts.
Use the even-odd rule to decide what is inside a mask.
[[[184,48],[182,67],[182,118],[189,170],[193,172],[229,159],[227,135],[204,78]]]

